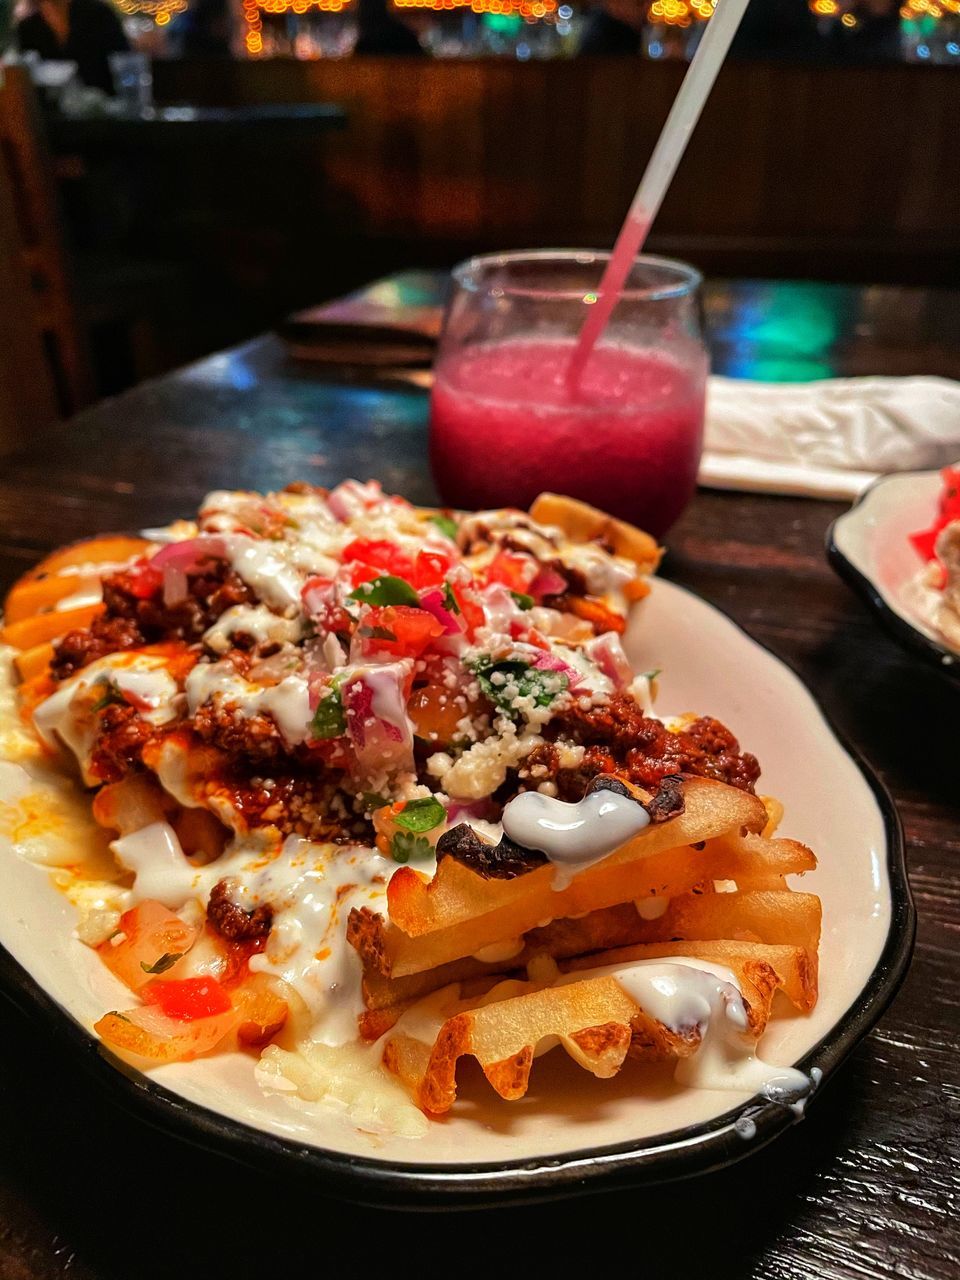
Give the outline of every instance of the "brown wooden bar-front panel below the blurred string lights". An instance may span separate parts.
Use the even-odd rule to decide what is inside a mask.
[[[333,100],[317,145],[353,230],[465,247],[609,243],[682,78],[594,60],[164,63],[159,93]],[[731,64],[657,224],[663,242],[960,250],[950,68]],[[846,251],[845,250],[845,251]]]

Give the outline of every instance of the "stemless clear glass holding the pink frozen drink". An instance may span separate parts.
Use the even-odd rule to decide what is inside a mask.
[[[547,489],[660,535],[689,503],[708,371],[701,278],[639,257],[572,384],[608,259],[550,250],[454,268],[430,402],[430,462],[449,506],[527,507]]]

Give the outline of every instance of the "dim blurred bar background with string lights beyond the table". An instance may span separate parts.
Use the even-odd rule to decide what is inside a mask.
[[[0,273],[60,413],[403,268],[609,246],[713,13],[108,3],[0,0]],[[955,284],[960,0],[758,0],[733,55],[649,250],[714,276]]]

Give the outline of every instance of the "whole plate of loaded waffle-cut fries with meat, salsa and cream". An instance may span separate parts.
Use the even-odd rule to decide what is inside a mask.
[[[812,695],[591,507],[218,492],[6,596],[0,984],[120,1102],[367,1202],[758,1149],[909,959]]]

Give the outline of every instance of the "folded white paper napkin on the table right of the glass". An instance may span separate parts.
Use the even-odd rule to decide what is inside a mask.
[[[717,489],[855,498],[878,475],[960,454],[960,383],[710,378],[700,483]]]

